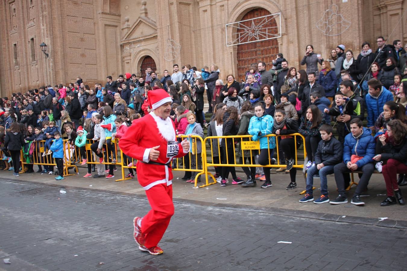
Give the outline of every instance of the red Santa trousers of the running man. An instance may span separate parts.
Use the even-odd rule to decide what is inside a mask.
[[[141,221],[141,231],[145,237],[144,246],[158,245],[174,215],[173,186],[158,184],[146,190],[151,210]]]

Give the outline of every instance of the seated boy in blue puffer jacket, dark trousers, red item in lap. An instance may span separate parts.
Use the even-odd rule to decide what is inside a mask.
[[[345,137],[344,162],[334,167],[339,195],[336,199],[331,200],[330,204],[348,203],[348,197],[345,194],[344,173],[351,173],[355,170],[362,171],[363,174],[350,203],[355,205],[365,204],[360,199],[360,194],[368,186],[374,170],[372,162],[376,143],[374,142],[374,137],[372,137],[372,131],[368,128],[363,128],[362,121],[358,118],[350,121],[350,132]]]

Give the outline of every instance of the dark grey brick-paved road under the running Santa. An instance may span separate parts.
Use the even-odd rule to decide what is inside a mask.
[[[175,204],[151,256],[133,241],[145,199],[0,182],[3,258],[45,270],[404,270],[407,231]],[[278,243],[286,241],[291,243]],[[15,269],[14,269],[15,270]],[[27,269],[30,270],[30,269]],[[34,268],[32,269],[34,270]]]

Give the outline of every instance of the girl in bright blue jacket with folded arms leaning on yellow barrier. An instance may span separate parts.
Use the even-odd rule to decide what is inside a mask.
[[[260,154],[258,156],[258,163],[260,165],[273,165],[275,159],[273,158],[274,147],[276,147],[276,141],[274,137],[266,137],[271,134],[273,128],[273,117],[270,115],[264,115],[263,105],[258,103],[254,106],[254,114],[249,123],[249,134],[251,134],[253,141],[260,141]],[[266,181],[262,184],[262,188],[271,186],[270,180],[270,167],[263,167]],[[243,187],[256,186],[256,180],[252,180],[252,184],[242,184]]]

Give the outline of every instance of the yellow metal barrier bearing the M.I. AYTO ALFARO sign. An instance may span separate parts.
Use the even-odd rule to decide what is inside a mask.
[[[304,145],[305,144],[305,138],[302,136],[302,134],[299,134],[299,133],[284,135],[284,137],[287,137],[287,136],[294,137],[294,141],[295,141],[295,161],[294,161],[295,163],[294,163],[293,167],[302,169],[304,167],[304,164],[303,163],[298,164],[298,155],[297,155],[298,150],[297,150],[296,142],[297,142],[297,137],[300,137],[302,139],[302,142],[303,142],[303,145]],[[282,135],[270,134],[267,137],[276,137],[276,139],[277,139],[278,137],[282,137]],[[213,141],[216,144],[215,146],[212,143],[212,139],[215,139]],[[216,140],[216,139],[218,139],[218,140]],[[226,162],[227,163],[221,163],[220,158],[219,158],[219,163],[213,163],[213,160],[214,160],[213,158],[217,157],[217,156],[213,155],[214,147],[217,148],[219,156],[220,156],[220,153],[221,153],[221,151],[220,151],[221,146],[220,146],[220,143],[219,143],[219,139],[222,139],[222,140],[233,139],[233,154],[234,154],[234,157],[235,157],[234,163],[230,163],[230,161],[229,161],[228,148],[225,148]],[[245,146],[245,150],[250,151],[249,160],[250,160],[251,163],[249,163],[249,164],[245,163],[246,158],[244,156],[244,152],[242,152],[243,164],[236,163],[236,142],[235,142],[235,139],[240,139],[239,141],[241,143],[241,146],[242,145]],[[242,139],[246,139],[246,141],[242,141]],[[207,141],[209,141],[208,144],[210,146],[210,152],[211,152],[210,155],[211,155],[211,162],[212,163],[209,163],[208,162],[208,157],[205,156],[204,157],[204,160],[205,160],[204,165],[206,165],[206,167],[205,167],[206,181],[208,182],[208,176],[212,177],[212,179],[214,180],[214,182],[211,182],[210,184],[216,184],[216,179],[214,178],[214,176],[211,173],[208,172],[208,167],[284,167],[284,166],[286,166],[286,165],[281,165],[280,164],[280,159],[279,159],[280,154],[278,153],[278,140],[276,140],[276,148],[277,148],[276,162],[277,162],[277,164],[265,165],[265,166],[255,164],[254,161],[251,159],[253,156],[256,156],[258,154],[258,150],[260,150],[260,144],[257,143],[258,141],[252,141],[252,136],[251,135],[206,137],[204,139],[204,143],[206,144]],[[269,141],[267,141],[267,144],[268,145],[270,144]],[[305,148],[304,148],[304,157],[305,156],[306,156],[306,151],[305,151]],[[271,158],[272,157],[270,157],[270,153],[269,153],[269,160],[271,160]],[[208,185],[210,185],[210,184],[208,184]]]

